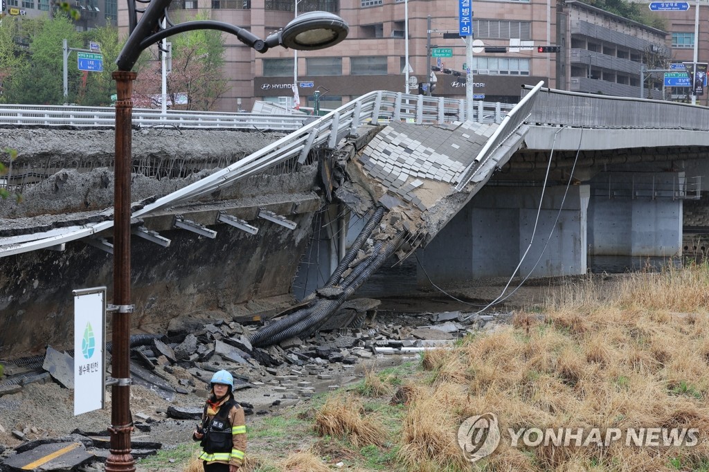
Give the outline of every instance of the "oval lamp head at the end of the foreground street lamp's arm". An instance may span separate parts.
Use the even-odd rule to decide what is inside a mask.
[[[270,35],[269,47],[281,45],[291,49],[313,51],[334,46],[347,38],[350,26],[339,16],[327,11],[311,11],[298,16],[278,33]]]

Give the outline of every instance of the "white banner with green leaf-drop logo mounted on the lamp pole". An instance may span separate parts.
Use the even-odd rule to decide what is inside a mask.
[[[74,290],[74,416],[104,408],[106,287]]]

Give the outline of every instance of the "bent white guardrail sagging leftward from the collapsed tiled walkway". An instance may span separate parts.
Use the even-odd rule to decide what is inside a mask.
[[[490,107],[489,104],[486,105],[484,102],[478,102],[476,105],[477,106],[474,107],[474,118],[490,120],[491,118],[485,117],[493,116],[501,120],[502,107],[500,104],[492,103]],[[65,112],[67,111],[67,107],[41,108],[61,108]],[[83,109],[79,109],[82,107],[69,108],[77,108],[71,111],[74,114],[84,111]],[[150,213],[155,213],[163,208],[169,208],[179,203],[196,200],[201,196],[212,193],[220,187],[233,185],[241,179],[258,174],[270,167],[275,167],[289,160],[303,163],[306,157],[308,157],[308,152],[310,152],[313,147],[325,145],[331,149],[335,149],[337,143],[339,143],[343,137],[350,134],[354,135],[360,125],[370,124],[373,121],[375,123],[388,123],[390,120],[406,120],[418,124],[450,122],[464,117],[465,108],[464,101],[460,100],[423,95],[406,95],[390,91],[369,92],[369,94],[340,106],[340,108],[331,111],[323,117],[309,118],[310,123],[298,126],[293,133],[281,137],[281,139],[276,142],[234,162],[230,166],[220,169],[206,176],[204,179],[196,181],[182,189],[158,198],[155,202],[135,211],[132,218],[139,218],[144,215],[149,215]],[[0,108],[0,111],[4,109],[6,109],[6,107]],[[22,109],[27,108],[18,106],[18,110]],[[113,111],[113,108],[109,108],[109,110]],[[35,111],[35,113],[48,114],[48,110],[45,109],[41,112]],[[243,123],[237,118],[250,117],[242,113],[232,113],[231,115],[235,116],[235,118],[230,128],[239,128],[236,123]],[[150,113],[150,116],[155,117],[155,113]],[[160,116],[159,112],[157,116]],[[221,116],[223,116],[223,114],[221,114]],[[284,117],[262,115],[258,118],[262,120],[261,123],[267,123],[268,118],[280,119]],[[297,118],[302,119],[301,117]],[[2,121],[4,119],[6,118],[0,118],[0,124],[4,123]],[[67,120],[68,119],[69,118],[67,118]],[[84,116],[82,120],[90,121],[86,116]],[[93,123],[94,124],[90,125],[84,124],[84,126],[96,126],[96,122],[94,121]],[[157,123],[160,123],[160,121]],[[215,120],[214,123],[220,123],[220,127],[226,127],[225,123],[228,122],[226,120]],[[510,123],[509,120],[506,120],[506,123]],[[35,120],[32,124],[37,125],[41,123]],[[69,123],[61,122],[60,124],[67,125]],[[109,124],[104,123],[104,125],[108,126]],[[155,120],[152,121],[152,125],[155,125]],[[250,124],[250,126],[252,127],[253,125]],[[206,125],[203,124],[202,127],[206,127]],[[242,125],[241,127],[248,128],[249,126]],[[501,128],[508,128],[508,126],[503,124]],[[268,129],[268,127],[264,126],[263,129]],[[96,212],[96,214],[100,213],[110,215],[112,211],[107,209],[103,212]],[[81,226],[64,227],[50,232],[38,232],[28,235],[0,238],[0,257],[48,247],[56,247],[66,242],[91,237],[98,232],[108,230],[112,226],[113,220],[105,220]]]

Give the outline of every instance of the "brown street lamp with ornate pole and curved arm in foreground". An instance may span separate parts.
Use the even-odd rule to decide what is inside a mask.
[[[125,41],[113,72],[116,80],[116,164],[113,210],[113,354],[111,387],[111,453],[106,460],[108,472],[133,472],[135,461],[130,455],[130,432],[133,423],[130,415],[130,170],[132,167],[132,72],[140,53],[163,38],[185,31],[213,29],[236,35],[245,45],[258,52],[270,47],[283,46],[301,50],[318,50],[330,47],[347,37],[349,26],[337,15],[313,11],[298,16],[266,40],[249,30],[220,21],[187,21],[173,24],[167,18],[172,0],[128,0],[130,35]],[[139,8],[140,7],[140,8]],[[138,20],[138,13],[143,13]]]

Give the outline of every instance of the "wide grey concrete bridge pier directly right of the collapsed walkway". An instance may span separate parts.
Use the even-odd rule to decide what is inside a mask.
[[[419,260],[434,283],[510,276],[529,247],[518,276],[585,274],[589,187],[571,186],[566,198],[565,191],[547,187],[535,230],[540,187],[485,186],[419,250]],[[418,283],[428,285],[421,269]]]

